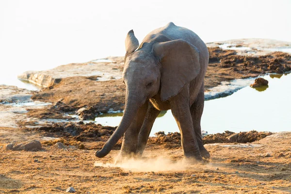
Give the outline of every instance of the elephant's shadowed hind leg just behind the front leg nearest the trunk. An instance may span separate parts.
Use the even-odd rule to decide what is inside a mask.
[[[156,109],[151,103],[148,104],[146,117],[138,135],[137,154],[143,154],[150,131],[160,112],[161,111]]]

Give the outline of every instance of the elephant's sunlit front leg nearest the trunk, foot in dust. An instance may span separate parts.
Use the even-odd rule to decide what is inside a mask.
[[[147,106],[148,101],[146,101],[146,103],[139,108],[136,116],[129,126],[129,129],[127,129],[124,133],[121,150],[116,162],[121,161],[122,158],[131,157],[136,153],[138,134],[145,120]]]

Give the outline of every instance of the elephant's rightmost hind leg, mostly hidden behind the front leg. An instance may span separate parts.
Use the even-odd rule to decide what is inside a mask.
[[[201,116],[204,109],[204,85],[202,85],[201,90],[191,106],[190,111],[193,119],[194,133],[199,146],[200,154],[203,158],[210,158],[210,153],[203,146],[202,134],[201,134]]]

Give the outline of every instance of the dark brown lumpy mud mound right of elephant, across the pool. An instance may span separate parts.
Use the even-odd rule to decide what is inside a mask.
[[[224,50],[219,47],[208,50],[209,65],[204,79],[206,91],[219,85],[221,81],[291,71],[291,55],[288,53],[273,52],[254,57],[237,55],[235,50]]]

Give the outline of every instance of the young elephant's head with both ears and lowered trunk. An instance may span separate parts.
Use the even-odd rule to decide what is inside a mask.
[[[145,43],[144,43],[145,44]],[[199,51],[182,40],[153,41],[144,49],[133,31],[125,40],[126,55],[122,74],[126,85],[125,108],[122,120],[113,135],[96,156],[106,156],[134,120],[138,109],[160,91],[161,100],[176,96],[182,87],[200,72]],[[137,49],[137,50],[136,50]],[[135,51],[136,50],[136,51]]]

